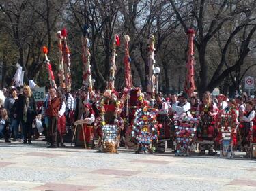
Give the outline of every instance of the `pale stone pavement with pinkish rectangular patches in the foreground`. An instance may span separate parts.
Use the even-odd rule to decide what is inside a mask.
[[[171,152],[50,150],[42,141],[22,145],[1,140],[0,190],[256,190],[256,161],[175,157]]]

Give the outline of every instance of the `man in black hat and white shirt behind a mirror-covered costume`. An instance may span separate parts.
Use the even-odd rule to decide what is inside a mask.
[[[188,112],[190,108],[191,105],[188,102],[188,94],[186,94],[186,92],[183,92],[182,95],[180,95],[180,101],[177,105],[172,105],[173,112],[181,117],[186,115],[186,112]]]

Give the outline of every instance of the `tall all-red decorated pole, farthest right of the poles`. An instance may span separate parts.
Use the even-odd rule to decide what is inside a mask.
[[[195,57],[194,57],[194,39],[195,39],[195,31],[193,29],[188,30],[188,63],[186,64],[187,74],[186,74],[186,82],[184,86],[184,92],[188,94],[188,97],[193,96],[193,92],[195,91],[195,80],[194,80],[194,65],[195,65]]]

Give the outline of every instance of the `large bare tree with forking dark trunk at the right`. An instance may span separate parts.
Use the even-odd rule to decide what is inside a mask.
[[[255,2],[252,1],[248,5],[244,5],[242,1],[187,1],[186,6],[190,7],[190,10],[184,12],[182,9],[178,9],[179,1],[169,0],[177,20],[180,21],[184,31],[187,32],[190,23],[187,23],[184,18],[188,16],[193,17],[193,27],[197,29],[197,37],[195,39],[195,46],[197,48],[200,64],[200,86],[199,91],[202,93],[205,90],[212,91],[218,84],[220,84],[229,73],[235,71],[240,65],[243,64],[244,58],[250,52],[251,39],[255,33],[256,26],[254,24],[255,18],[244,17],[244,14],[253,12],[255,10]],[[231,7],[231,8],[230,8]],[[208,14],[206,14],[206,12]],[[210,14],[212,12],[213,14]],[[240,22],[234,27],[229,36],[223,35],[221,48],[221,59],[219,60],[218,66],[214,69],[212,77],[209,77],[209,63],[206,56],[210,54],[208,50],[209,44],[212,42],[214,36],[225,28],[227,22],[236,22],[236,18],[242,18]],[[244,29],[248,27],[249,31],[245,37],[245,40],[241,42],[242,49],[240,50],[240,57],[235,64],[229,65],[225,69],[227,50],[235,37]]]

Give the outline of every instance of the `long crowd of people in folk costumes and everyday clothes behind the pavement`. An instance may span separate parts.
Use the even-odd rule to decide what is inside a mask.
[[[33,127],[37,125],[35,121],[40,120],[44,130],[42,135],[45,136],[43,141],[48,143],[48,148],[65,147],[64,136],[67,133],[67,127],[82,124],[86,144],[88,147],[95,147],[96,137],[102,137],[100,126],[104,123],[115,123],[119,127],[117,145],[122,145],[122,140],[126,140],[128,136],[128,125],[132,125],[132,120],[128,119],[129,108],[126,103],[128,91],[106,91],[101,94],[99,91],[92,92],[87,88],[74,92],[50,88],[46,90],[44,101],[36,103],[29,86],[24,86],[21,90],[14,87],[3,90],[5,101],[1,106],[0,137],[7,143],[12,139],[14,142],[20,140],[23,144],[32,144],[31,140],[39,137],[37,128]],[[106,99],[107,97],[113,98],[115,103],[111,105],[112,99]],[[218,142],[221,139],[216,123],[221,114],[232,115],[234,150],[248,151],[248,145],[252,141],[250,136],[256,142],[255,99],[248,97],[246,93],[236,94],[235,98],[228,99],[223,94],[213,97],[210,92],[205,92],[199,100],[196,94],[188,98],[185,92],[165,96],[159,92],[152,99],[152,94],[139,91],[137,99],[139,104],[136,103],[134,111],[144,107],[157,110],[158,128],[169,129],[171,133],[167,138],[173,141],[174,152],[177,149],[174,121],[185,117],[200,119],[196,139],[193,139],[198,144],[196,147],[200,155],[204,155],[205,150],[208,150],[209,155],[216,154]],[[106,111],[111,111],[115,117],[107,116]],[[105,114],[104,118],[102,113]],[[250,129],[253,129],[252,135],[250,135]],[[160,129],[158,130],[159,133]],[[76,137],[76,145],[79,145],[79,141],[83,141],[81,128]],[[195,148],[191,147],[191,150]]]

